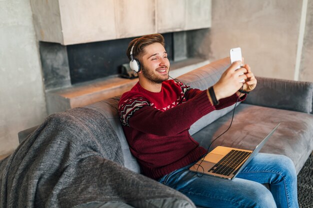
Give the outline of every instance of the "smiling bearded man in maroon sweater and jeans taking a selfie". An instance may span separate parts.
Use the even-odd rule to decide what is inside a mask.
[[[232,181],[197,177],[188,170],[206,153],[188,129],[202,116],[242,101],[255,88],[256,79],[247,64],[234,62],[217,83],[199,90],[168,80],[170,64],[162,35],[135,38],[126,53],[139,81],[121,96],[118,109],[142,174],[182,192],[201,207],[298,207],[294,165],[285,156],[259,153]]]

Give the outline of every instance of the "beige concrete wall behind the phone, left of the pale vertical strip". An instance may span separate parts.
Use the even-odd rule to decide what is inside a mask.
[[[302,0],[213,0],[210,60],[241,47],[257,76],[294,79]]]

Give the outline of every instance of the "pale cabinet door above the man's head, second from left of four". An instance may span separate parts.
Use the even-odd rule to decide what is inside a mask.
[[[155,0],[116,0],[117,38],[155,33]]]

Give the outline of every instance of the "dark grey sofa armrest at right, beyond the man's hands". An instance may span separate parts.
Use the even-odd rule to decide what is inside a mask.
[[[256,77],[255,89],[244,103],[271,108],[312,112],[313,83]]]

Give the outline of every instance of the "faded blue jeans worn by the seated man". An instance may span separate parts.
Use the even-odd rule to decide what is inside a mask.
[[[296,172],[285,156],[258,153],[233,180],[198,177],[188,170],[192,165],[158,181],[205,208],[298,208]]]

